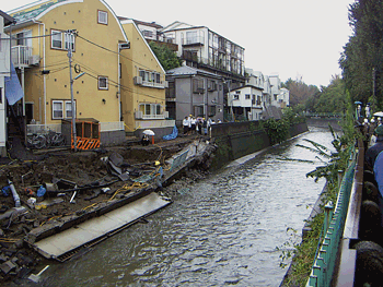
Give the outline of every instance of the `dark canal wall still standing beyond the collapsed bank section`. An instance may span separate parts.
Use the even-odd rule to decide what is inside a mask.
[[[271,145],[267,131],[260,129],[257,121],[221,123],[211,128],[211,137],[217,145],[211,164],[213,169]],[[305,122],[297,123],[290,127],[288,139],[306,131],[309,129]]]

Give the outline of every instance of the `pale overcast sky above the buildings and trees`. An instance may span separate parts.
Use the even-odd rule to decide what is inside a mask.
[[[2,1],[8,12],[28,0]],[[352,0],[107,0],[119,16],[167,25],[174,21],[211,31],[245,48],[245,67],[309,85],[328,85],[351,35]]]

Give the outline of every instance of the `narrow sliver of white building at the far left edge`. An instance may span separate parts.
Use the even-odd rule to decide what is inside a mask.
[[[7,156],[7,109],[5,109],[5,76],[11,75],[10,40],[4,33],[14,19],[0,10],[0,157]]]

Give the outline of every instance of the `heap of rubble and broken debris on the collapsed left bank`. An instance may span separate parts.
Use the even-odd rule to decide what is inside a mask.
[[[70,222],[86,219],[90,211],[106,213],[109,203],[129,196],[134,200],[142,188],[135,179],[153,175],[155,162],[165,166],[166,159],[193,140],[79,153],[61,151],[35,159],[0,162],[0,188],[11,180],[21,203],[21,207],[14,207],[11,192],[9,196],[0,194],[0,283],[14,279],[18,274],[26,278],[38,264],[39,255],[28,248],[37,237],[49,236]],[[198,172],[188,174],[195,179],[201,177]],[[175,194],[176,189],[169,188],[164,193]]]

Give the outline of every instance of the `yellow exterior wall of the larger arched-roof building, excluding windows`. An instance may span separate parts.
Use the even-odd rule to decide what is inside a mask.
[[[97,23],[98,10],[107,13],[107,25]],[[116,53],[117,44],[127,40],[114,12],[101,0],[63,1],[42,13],[37,21],[42,24],[12,33],[32,29],[33,36],[40,36],[53,29],[77,29],[81,37]],[[86,73],[73,82],[77,118],[119,121],[118,56],[86,40],[77,37],[72,55],[72,64]],[[51,48],[51,37],[35,38],[32,46],[33,55],[38,55],[40,61],[39,67],[25,69],[26,101],[33,103],[36,121],[60,123],[60,119],[53,117],[53,100],[71,99],[69,69],[66,69],[69,67],[68,51]],[[42,74],[42,70],[49,70],[49,73]],[[77,75],[73,72],[73,77]],[[107,89],[98,89],[98,76],[107,77]]]

